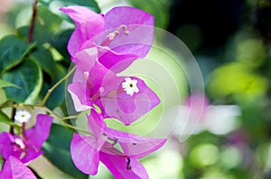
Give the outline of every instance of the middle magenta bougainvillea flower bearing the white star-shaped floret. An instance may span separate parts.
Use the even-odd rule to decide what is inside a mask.
[[[77,69],[68,91],[77,112],[96,104],[104,117],[129,125],[160,103],[142,79],[116,76],[98,63],[96,50],[82,50],[75,57]]]

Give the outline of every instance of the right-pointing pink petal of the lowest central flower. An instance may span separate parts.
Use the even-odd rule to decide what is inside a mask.
[[[162,148],[166,142],[166,139],[141,137],[135,134],[113,130],[110,128],[107,128],[105,132],[108,138],[117,139],[117,142],[123,149],[125,156],[134,158],[145,157],[157,149]]]

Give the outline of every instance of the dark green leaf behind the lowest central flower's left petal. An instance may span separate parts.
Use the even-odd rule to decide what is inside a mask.
[[[78,179],[88,179],[89,175],[81,173],[74,166],[70,157],[70,141],[74,131],[58,124],[52,124],[49,139],[43,144],[44,156],[63,172]]]

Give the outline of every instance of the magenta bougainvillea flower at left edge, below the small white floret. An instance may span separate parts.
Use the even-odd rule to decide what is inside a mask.
[[[29,164],[42,155],[42,144],[49,137],[52,117],[44,114],[37,116],[33,129],[23,130],[22,137],[8,132],[0,134],[0,154],[6,160],[13,156]]]

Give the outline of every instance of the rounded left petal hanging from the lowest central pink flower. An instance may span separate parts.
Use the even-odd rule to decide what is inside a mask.
[[[70,155],[74,165],[83,173],[98,173],[99,155],[96,140],[92,137],[81,137],[74,133],[70,142]]]

